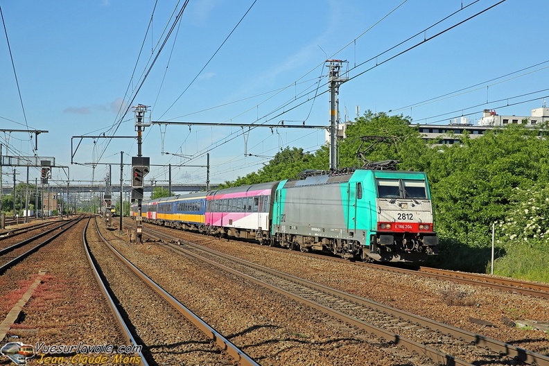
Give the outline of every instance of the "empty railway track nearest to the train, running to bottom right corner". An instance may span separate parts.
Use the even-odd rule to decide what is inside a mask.
[[[150,230],[148,230],[150,232]],[[410,350],[427,354],[435,362],[467,365],[469,362],[507,364],[516,361],[536,365],[549,365],[549,358],[514,345],[493,340],[476,333],[464,331],[389,306],[342,293],[310,281],[264,268],[241,259],[220,253],[212,253],[203,247],[182,242],[179,238],[153,232],[153,236],[184,245],[171,245],[173,250],[193,255],[225,270],[240,273],[252,281],[272,290],[307,302],[354,326],[363,327],[378,337],[385,338]],[[391,329],[386,331],[385,329]],[[393,333],[398,331],[398,333]],[[476,345],[477,347],[471,347]],[[487,351],[490,349],[491,351]],[[463,361],[463,360],[466,361]]]

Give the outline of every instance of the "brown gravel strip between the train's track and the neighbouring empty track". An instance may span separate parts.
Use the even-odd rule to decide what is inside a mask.
[[[195,234],[182,234],[189,240],[197,238]],[[275,251],[270,247],[239,241],[202,240],[202,244],[375,302],[549,355],[549,334],[509,327],[502,321],[503,317],[508,317],[512,320],[548,322],[549,301],[546,299],[439,279],[398,275],[361,268],[350,262],[336,263],[302,256],[299,252]],[[469,317],[494,325],[476,324],[470,322]]]

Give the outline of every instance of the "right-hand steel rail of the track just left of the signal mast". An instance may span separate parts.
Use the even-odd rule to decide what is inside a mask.
[[[236,362],[238,362],[240,365],[243,366],[259,366],[258,363],[256,363],[250,356],[245,354],[244,351],[236,347],[231,341],[227,340],[221,333],[216,331],[212,326],[204,322],[204,320],[200,319],[198,315],[195,315],[189,308],[186,308],[183,304],[181,304],[175,297],[170,295],[164,288],[159,286],[153,279],[145,275],[145,273],[141,272],[139,268],[137,268],[133,263],[128,261],[128,259],[125,258],[116,248],[114,248],[108,241],[101,235],[101,232],[99,232],[99,235],[103,239],[103,242],[110,248],[110,250],[125,264],[130,268],[140,279],[146,282],[148,286],[153,288],[162,298],[166,300],[169,304],[171,304],[175,310],[179,311],[184,317],[186,317],[190,322],[192,322],[200,331],[202,331],[208,338],[211,340],[214,340],[216,342],[216,345],[220,347],[222,351],[226,351],[229,356],[234,358]]]

